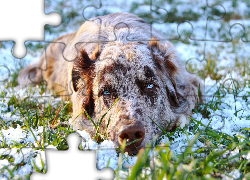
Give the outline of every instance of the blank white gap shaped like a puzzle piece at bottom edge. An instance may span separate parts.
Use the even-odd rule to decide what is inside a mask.
[[[77,133],[68,135],[67,142],[69,144],[67,151],[46,149],[47,173],[43,175],[34,173],[31,179],[79,179],[79,177],[97,179],[100,176],[104,177],[102,179],[112,179],[111,170],[96,171],[95,151],[79,150],[80,141]]]

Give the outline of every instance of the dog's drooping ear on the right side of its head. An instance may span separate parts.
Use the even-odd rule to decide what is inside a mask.
[[[185,94],[186,84],[184,83],[185,85],[180,87],[178,82],[180,74],[184,72],[180,72],[182,67],[178,63],[178,56],[174,46],[168,41],[162,43],[153,37],[148,43],[148,48],[151,50],[155,66],[168,79],[165,88],[171,109],[175,113],[186,113],[190,102]]]

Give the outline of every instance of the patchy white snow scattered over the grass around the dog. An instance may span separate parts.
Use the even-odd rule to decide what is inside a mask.
[[[116,4],[116,7],[113,6],[111,8],[109,1],[105,1],[105,4],[103,4],[110,12],[122,12],[122,11],[128,11],[130,6],[132,5],[134,1],[129,0],[126,2],[120,2],[118,1]],[[182,16],[184,12],[188,12],[188,10],[192,10],[192,12],[195,12],[197,14],[203,14],[204,11],[201,10],[202,6],[206,6],[204,4],[205,1],[198,2],[194,1],[196,3],[196,6],[194,4],[191,4],[188,0],[183,0],[180,2],[186,2],[187,4],[183,5],[180,3],[180,5],[176,5],[177,8],[177,15]],[[51,1],[51,8],[47,8],[46,12],[53,11],[54,9],[52,7],[56,7],[57,3],[54,3]],[[139,2],[138,2],[139,3]],[[65,12],[68,11],[68,9],[72,8],[74,5],[76,8],[77,3],[70,3],[68,4],[67,8],[65,8]],[[112,4],[112,3],[111,3]],[[89,4],[86,4],[89,5]],[[113,5],[113,4],[112,4]],[[223,2],[222,5],[227,11],[233,11],[236,14],[239,14],[244,18],[245,14],[249,11],[249,8],[247,5],[243,2],[239,2],[237,4],[236,8],[232,8],[232,2]],[[74,7],[73,7],[74,8]],[[173,5],[171,4],[164,4],[164,8],[166,10],[171,10],[173,8]],[[100,10],[101,11],[101,10]],[[135,13],[146,13],[149,11],[149,6],[140,7],[135,11]],[[102,12],[100,12],[101,14]],[[89,14],[91,16],[92,14]],[[82,17],[81,17],[82,18]],[[80,18],[79,18],[80,19]],[[83,19],[83,18],[82,18]],[[193,27],[189,23],[182,23],[180,26],[178,26],[177,23],[166,23],[166,24],[155,24],[154,27],[158,29],[160,32],[163,32],[164,34],[173,34],[169,32],[174,32],[174,35],[177,36],[176,33],[178,28],[178,33],[182,34],[181,39],[185,39],[185,36],[183,34],[191,34],[192,39],[189,39],[190,44],[184,44],[181,41],[175,44],[175,47],[177,51],[179,52],[180,58],[183,60],[183,62],[187,62],[188,60],[192,59],[192,64],[197,65],[196,67],[198,69],[203,68],[204,61],[200,62],[197,60],[203,60],[207,59],[209,55],[217,54],[219,51],[219,56],[216,57],[218,60],[218,67],[223,68],[227,67],[228,70],[235,67],[235,59],[238,58],[240,62],[243,62],[247,58],[249,58],[249,43],[244,42],[242,40],[239,40],[239,44],[237,47],[234,47],[234,44],[232,42],[214,42],[214,41],[208,41],[206,44],[204,44],[203,41],[199,41],[200,39],[208,39],[208,40],[214,40],[219,39],[221,36],[221,32],[225,33],[226,37],[231,37],[237,39],[236,37],[240,37],[242,35],[242,28],[239,26],[234,26],[232,29],[230,29],[230,26],[235,23],[243,24],[244,26],[248,27],[250,25],[249,20],[231,20],[226,27],[221,27],[220,22],[217,20],[211,20],[207,24],[206,22],[206,16],[202,16],[198,21],[196,22],[190,22]],[[206,25],[208,25],[208,32],[206,32]],[[193,33],[192,33],[193,28]],[[218,31],[218,29],[222,29],[221,32]],[[77,28],[76,28],[77,29]],[[231,30],[229,34],[229,29]],[[72,32],[75,29],[73,29],[72,26],[68,26],[66,31]],[[185,33],[183,33],[185,32]],[[65,34],[59,33],[59,34]],[[205,36],[206,35],[206,36]],[[231,36],[232,35],[232,36]],[[57,36],[46,34],[46,40],[53,40]],[[239,38],[238,38],[239,39]],[[222,51],[221,51],[222,50]],[[204,57],[205,55],[205,57]],[[33,60],[38,60],[39,56],[33,56],[31,54],[27,54],[24,61],[25,64],[28,64],[29,62]],[[247,59],[249,61],[249,59]],[[8,45],[7,49],[0,49],[0,82],[4,79],[7,79],[10,75],[13,69],[16,68],[17,63],[20,60],[15,59],[12,56],[11,53],[11,45]],[[212,97],[209,97],[210,95],[213,95],[221,84],[226,82],[229,78],[234,78],[237,81],[241,82],[244,79],[249,79],[249,74],[246,74],[245,76],[241,76],[238,72],[230,72],[228,73],[227,69],[223,69],[219,71],[219,74],[225,75],[223,80],[216,81],[213,80],[211,77],[207,77],[204,80],[205,88],[206,88],[206,95],[208,96],[206,98],[206,101],[211,101]],[[225,83],[225,85],[227,85]],[[229,83],[230,86],[230,83]],[[37,88],[34,87],[34,98],[40,97],[41,95],[38,93]],[[13,120],[20,119],[19,115],[12,114],[12,112],[15,110],[14,106],[10,107],[10,112],[7,111],[7,103],[9,101],[8,97],[11,97],[12,94],[18,94],[20,97],[25,97],[26,92],[28,88],[23,89],[5,89],[3,85],[0,85],[1,92],[6,92],[6,98],[3,98],[0,100],[0,118],[5,123],[11,122]],[[192,118],[196,119],[197,121],[200,121],[204,125],[209,125],[212,129],[219,130],[222,133],[228,134],[230,136],[239,135],[240,129],[243,128],[249,128],[249,119],[250,116],[250,105],[246,103],[246,101],[242,98],[244,95],[248,95],[247,99],[250,101],[249,98],[250,94],[250,88],[243,88],[239,92],[238,96],[235,97],[233,94],[226,93],[224,97],[222,97],[221,101],[223,102],[220,105],[220,109],[214,111],[213,109],[209,109],[208,111],[211,113],[209,118],[204,118],[202,114],[195,113],[192,115]],[[50,94],[44,94],[42,97],[39,98],[40,102],[47,101],[46,96],[49,96]],[[52,102],[60,101],[60,98],[54,98]],[[53,106],[54,104],[52,104]],[[236,113],[237,112],[237,113]],[[24,121],[24,119],[20,119],[21,121]],[[200,126],[200,128],[205,129],[205,127]],[[43,127],[38,127],[37,129],[31,129],[36,139],[39,141],[41,138],[41,133],[43,132]],[[97,150],[97,167],[99,169],[106,168],[107,164],[109,163],[109,167],[112,169],[118,168],[118,161],[119,161],[119,155],[117,155],[116,151],[113,149],[115,146],[113,142],[105,140],[102,143],[98,144],[94,140],[91,139],[89,134],[86,131],[77,131],[83,139],[85,139],[85,142],[82,141],[81,145],[84,150]],[[191,134],[191,135],[190,135]],[[170,144],[170,149],[175,152],[176,154],[183,152],[183,147],[188,146],[188,140],[191,140],[195,137],[194,133],[192,131],[189,131],[186,134],[175,134],[175,139],[172,142],[169,142],[167,137],[162,137],[161,142],[164,144]],[[244,140],[244,139],[242,139]],[[37,142],[35,141],[32,133],[30,131],[22,129],[19,125],[17,125],[16,128],[10,127],[8,129],[2,129],[0,131],[0,142],[5,143],[7,145],[14,145],[15,143],[25,144],[25,143],[32,143],[35,146],[38,146]],[[194,148],[199,148],[204,146],[201,142],[197,141]],[[49,145],[49,148],[55,148],[53,145]],[[105,148],[105,149],[104,149]],[[110,150],[113,149],[113,150]],[[33,163],[35,163],[39,168],[41,168],[41,160],[45,162],[45,153],[42,150],[35,150],[32,148],[22,148],[21,152],[18,153],[17,148],[12,148],[10,151],[7,148],[0,149],[0,154],[9,154],[12,155],[15,159],[15,163],[19,163],[21,161],[26,162],[24,166],[22,166],[18,171],[14,172],[15,177],[18,176],[25,176],[33,171]],[[239,153],[239,149],[235,149],[230,152],[230,156],[237,155]],[[153,152],[151,152],[151,155]],[[246,158],[248,161],[250,161],[250,152],[247,153],[247,155],[243,155],[243,158]],[[123,166],[128,167],[135,164],[137,160],[137,157],[131,157],[125,154],[125,158],[123,159]],[[32,163],[33,162],[33,163]],[[4,166],[9,166],[9,168],[13,168],[13,165],[11,165],[7,160],[3,159],[0,160],[0,169]],[[183,166],[182,168],[186,168]],[[147,172],[145,170],[145,172]],[[8,174],[7,171],[4,171],[4,173]],[[119,171],[119,175],[126,176],[127,173],[124,171]],[[232,172],[228,172],[228,175],[223,175],[223,179],[237,179],[241,176],[241,173],[238,169],[233,170]]]

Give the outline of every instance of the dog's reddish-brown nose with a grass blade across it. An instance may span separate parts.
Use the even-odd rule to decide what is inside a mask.
[[[143,140],[145,138],[145,129],[141,125],[132,125],[123,129],[119,133],[118,141],[119,144],[122,144],[124,139],[126,144],[125,151],[129,154],[136,153],[140,148]]]

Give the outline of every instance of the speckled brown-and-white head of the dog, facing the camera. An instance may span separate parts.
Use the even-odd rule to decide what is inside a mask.
[[[125,151],[137,153],[161,128],[172,130],[190,114],[193,106],[185,92],[192,83],[181,80],[181,71],[173,46],[156,39],[108,43],[92,53],[81,49],[71,71],[73,123],[94,135],[84,111],[96,124],[107,112],[100,133],[117,145],[134,142]]]

